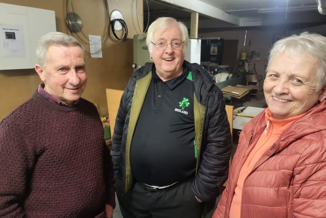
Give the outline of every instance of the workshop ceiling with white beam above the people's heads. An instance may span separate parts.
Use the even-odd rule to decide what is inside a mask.
[[[198,32],[249,27],[311,28],[326,35],[326,0],[143,0],[144,26],[171,16],[188,28],[198,12]],[[319,7],[324,9],[318,11]],[[323,13],[323,14],[322,14]],[[149,16],[149,19],[148,19]]]

